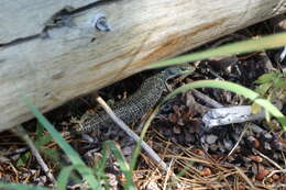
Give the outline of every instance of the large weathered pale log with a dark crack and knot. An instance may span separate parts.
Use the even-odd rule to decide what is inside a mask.
[[[98,1],[98,2],[97,2]],[[286,0],[2,0],[0,131],[286,10]],[[110,31],[95,27],[105,15]]]

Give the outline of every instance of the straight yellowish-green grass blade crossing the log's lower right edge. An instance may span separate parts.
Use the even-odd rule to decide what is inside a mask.
[[[146,68],[153,69],[153,68],[166,67],[166,66],[184,64],[188,62],[201,60],[201,59],[216,57],[216,56],[230,56],[234,54],[243,54],[243,53],[250,53],[254,51],[271,49],[284,45],[286,45],[285,32],[260,37],[260,38],[252,38],[248,41],[232,43],[229,45],[222,45],[220,47],[215,47],[198,53],[178,56],[167,60],[162,60],[158,63],[151,64]]]

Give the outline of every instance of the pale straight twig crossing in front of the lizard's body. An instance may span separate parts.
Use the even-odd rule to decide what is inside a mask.
[[[101,97],[97,97],[96,100],[99,104],[105,109],[105,111],[109,114],[109,116],[112,119],[114,123],[117,123],[121,130],[123,130],[129,136],[131,136],[136,143],[139,143],[141,139],[140,137],[129,128],[129,126],[119,119],[114,112],[111,110],[111,108],[106,103],[106,101]],[[141,142],[142,148],[148,154],[148,156],[155,160],[160,166],[167,171],[167,165],[158,157],[158,155],[145,143]]]

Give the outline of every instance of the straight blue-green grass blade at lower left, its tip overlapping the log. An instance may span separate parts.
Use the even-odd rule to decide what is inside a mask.
[[[36,116],[38,122],[50,132],[53,138],[57,142],[58,146],[65,152],[73,165],[86,166],[85,163],[80,159],[79,155],[75,149],[66,143],[62,135],[55,130],[55,127],[46,120],[46,118],[33,105],[26,97],[23,97],[23,102],[29,107],[30,111]],[[96,180],[91,170],[87,169],[88,167],[80,167],[78,169],[79,174],[95,190],[101,189],[99,182]]]

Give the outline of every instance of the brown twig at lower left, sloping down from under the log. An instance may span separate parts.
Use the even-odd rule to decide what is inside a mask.
[[[47,165],[45,164],[44,159],[42,158],[42,156],[40,155],[40,153],[37,152],[33,141],[29,137],[26,131],[23,128],[22,125],[16,125],[15,127],[13,127],[11,130],[15,135],[18,135],[20,138],[22,138],[28,146],[30,147],[32,154],[35,156],[38,165],[41,166],[41,168],[43,169],[43,171],[46,174],[47,178],[50,179],[51,182],[53,182],[54,185],[56,183],[56,180],[53,176],[53,174],[50,171]]]

